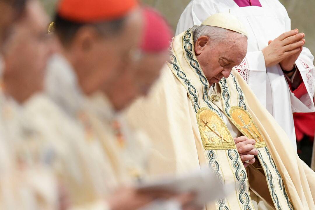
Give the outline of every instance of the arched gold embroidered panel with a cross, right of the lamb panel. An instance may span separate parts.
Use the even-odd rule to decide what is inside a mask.
[[[260,130],[256,126],[256,123],[248,111],[239,106],[232,106],[230,109],[230,115],[233,124],[238,128],[238,130],[248,138],[256,141],[256,148],[266,146]]]

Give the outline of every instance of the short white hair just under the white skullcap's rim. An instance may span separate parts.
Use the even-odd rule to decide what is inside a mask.
[[[207,36],[210,40],[215,40],[216,42],[223,42],[226,41],[228,38],[228,34],[234,33],[238,36],[238,38],[246,37],[244,34],[231,31],[225,28],[220,28],[216,26],[193,26],[191,28],[193,37],[194,37],[194,43],[201,37],[201,36]],[[247,38],[247,37],[246,37]]]

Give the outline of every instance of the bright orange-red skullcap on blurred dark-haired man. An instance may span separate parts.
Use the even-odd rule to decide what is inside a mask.
[[[70,21],[95,23],[122,18],[136,5],[137,0],[60,0],[57,12]]]

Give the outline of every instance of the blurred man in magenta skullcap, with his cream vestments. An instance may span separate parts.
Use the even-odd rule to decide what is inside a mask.
[[[151,8],[142,10],[144,31],[138,49],[133,52],[135,54],[133,62],[128,65],[121,63],[118,68],[121,73],[117,79],[103,84],[101,91],[107,99],[95,97],[93,100],[95,106],[111,107],[109,110],[112,110],[112,117],[117,116],[114,128],[117,130],[116,132],[121,133],[121,136],[117,137],[121,148],[120,155],[124,155],[123,162],[129,173],[138,179],[145,178],[146,154],[150,146],[147,144],[145,134],[140,130],[129,128],[121,113],[137,97],[146,96],[149,92],[168,58],[169,39],[171,38],[169,26],[157,11]],[[103,121],[113,122],[112,117],[105,116]]]

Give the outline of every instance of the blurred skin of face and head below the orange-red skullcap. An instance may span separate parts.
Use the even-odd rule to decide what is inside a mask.
[[[132,62],[132,51],[139,46],[142,25],[142,13],[136,8],[125,17],[122,29],[114,35],[102,36],[89,25],[78,29],[71,44],[64,46],[63,54],[72,63],[85,94],[109,87],[119,79],[123,73],[119,67]]]

